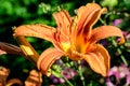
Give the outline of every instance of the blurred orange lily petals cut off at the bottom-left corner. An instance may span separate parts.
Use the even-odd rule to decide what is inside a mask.
[[[0,86],[12,86],[15,84],[18,86],[23,86],[23,82],[18,78],[6,80],[9,74],[10,74],[9,69],[0,67]],[[26,78],[24,83],[25,86],[41,86],[42,75],[40,72],[31,70],[29,72],[29,76]]]

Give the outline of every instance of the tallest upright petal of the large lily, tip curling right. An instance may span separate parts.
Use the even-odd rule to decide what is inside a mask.
[[[72,34],[72,38],[74,38],[72,42],[75,42],[76,47],[88,47],[87,42],[91,37],[92,26],[99,20],[101,14],[106,11],[105,8],[101,9],[95,3],[89,3],[86,6],[79,8],[77,14],[77,20],[79,22],[77,27],[75,27],[77,29],[74,31],[77,34]],[[76,23],[76,19],[74,19],[74,23]],[[84,52],[83,48],[78,48],[78,51]]]

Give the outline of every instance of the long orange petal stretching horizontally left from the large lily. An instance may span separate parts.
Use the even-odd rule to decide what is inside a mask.
[[[28,35],[28,37],[36,37],[40,39],[46,39],[48,41],[52,41],[53,33],[56,31],[55,28],[37,24],[37,25],[23,25],[17,27],[14,30],[14,37],[17,35]]]

